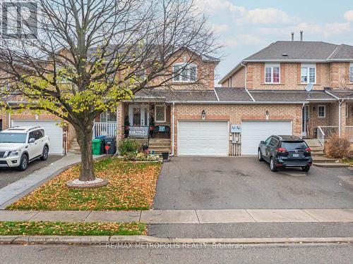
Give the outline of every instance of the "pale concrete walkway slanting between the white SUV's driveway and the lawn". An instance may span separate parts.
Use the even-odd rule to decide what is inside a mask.
[[[95,156],[94,158],[100,157],[102,156]],[[36,170],[17,182],[8,184],[6,187],[0,189],[0,209],[6,208],[9,204],[30,193],[30,191],[35,189],[38,185],[50,180],[71,165],[79,163],[80,160],[80,155],[63,156],[59,161],[55,161],[40,170]]]

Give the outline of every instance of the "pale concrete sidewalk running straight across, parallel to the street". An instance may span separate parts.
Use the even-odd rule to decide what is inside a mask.
[[[353,209],[241,209],[143,211],[0,210],[0,221],[144,222],[210,224],[240,222],[353,222]]]

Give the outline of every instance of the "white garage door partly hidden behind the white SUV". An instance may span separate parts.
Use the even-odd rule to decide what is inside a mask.
[[[12,120],[12,125],[43,127],[50,139],[49,154],[63,153],[63,130],[54,120]]]

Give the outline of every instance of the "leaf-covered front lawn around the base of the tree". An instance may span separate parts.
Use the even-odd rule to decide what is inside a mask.
[[[7,207],[11,210],[148,210],[155,196],[160,163],[126,163],[119,158],[95,161],[96,177],[109,184],[97,189],[69,189],[76,165]]]

